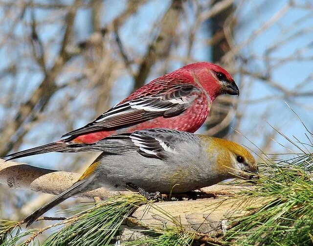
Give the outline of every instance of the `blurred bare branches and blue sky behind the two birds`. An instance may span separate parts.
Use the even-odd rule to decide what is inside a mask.
[[[197,61],[225,67],[241,91],[216,100],[198,132],[256,154],[246,138],[266,153],[284,146],[292,153],[267,122],[304,139],[288,102],[313,126],[312,0],[1,0],[0,33],[0,156],[55,141],[152,79]],[[80,172],[95,156],[22,161]],[[0,218],[22,219],[49,199],[1,187]]]

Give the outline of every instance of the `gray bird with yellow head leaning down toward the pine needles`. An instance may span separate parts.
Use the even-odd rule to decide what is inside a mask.
[[[124,190],[131,183],[169,194],[258,175],[255,159],[245,148],[206,135],[152,128],[79,145],[103,153],[76,183],[29,215],[27,226],[67,198],[99,187]]]

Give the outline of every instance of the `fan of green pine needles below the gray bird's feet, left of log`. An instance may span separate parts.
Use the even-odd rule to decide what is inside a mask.
[[[135,208],[148,201],[139,195],[121,196],[83,212],[79,219],[52,234],[43,246],[99,246],[116,241],[119,228]]]

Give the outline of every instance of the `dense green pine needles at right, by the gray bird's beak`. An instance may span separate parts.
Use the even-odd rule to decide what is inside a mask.
[[[246,246],[313,245],[313,155],[269,161],[256,187],[238,194],[241,199],[265,199],[255,213],[238,219],[224,240]]]

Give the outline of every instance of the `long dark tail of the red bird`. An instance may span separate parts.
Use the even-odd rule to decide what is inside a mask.
[[[12,153],[12,154],[5,156],[4,158],[8,158],[6,160],[13,160],[13,159],[20,158],[20,157],[34,156],[34,155],[45,154],[49,152],[68,152],[69,150],[70,149],[67,143],[59,141],[55,143],[48,143],[45,145],[41,145],[41,146],[31,148],[28,150],[23,150],[23,151],[19,151],[16,153]]]

